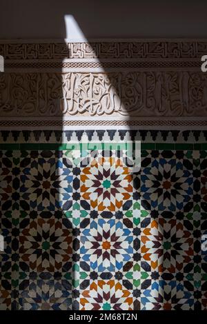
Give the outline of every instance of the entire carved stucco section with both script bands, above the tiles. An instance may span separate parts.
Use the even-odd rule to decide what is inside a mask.
[[[207,125],[207,40],[4,41],[0,54],[1,126]]]

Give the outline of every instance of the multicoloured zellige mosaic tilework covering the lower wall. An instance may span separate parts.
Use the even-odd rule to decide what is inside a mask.
[[[141,141],[141,169],[83,134]],[[207,132],[0,137],[1,310],[207,310]]]

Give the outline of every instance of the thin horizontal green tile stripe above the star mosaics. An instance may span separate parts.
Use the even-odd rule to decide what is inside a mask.
[[[126,150],[129,143],[88,143],[87,150]],[[0,150],[84,150],[82,143],[0,143]],[[133,143],[135,148],[135,143]],[[141,150],[207,150],[207,143],[141,143]]]

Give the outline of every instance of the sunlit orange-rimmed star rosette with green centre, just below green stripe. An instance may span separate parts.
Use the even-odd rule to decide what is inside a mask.
[[[98,157],[81,172],[81,196],[98,211],[115,212],[132,195],[132,175],[115,157]]]

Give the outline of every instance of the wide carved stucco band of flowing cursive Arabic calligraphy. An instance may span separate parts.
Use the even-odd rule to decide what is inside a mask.
[[[1,73],[1,116],[206,116],[202,72]]]

